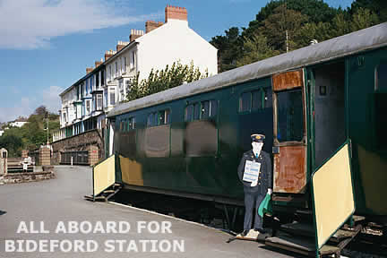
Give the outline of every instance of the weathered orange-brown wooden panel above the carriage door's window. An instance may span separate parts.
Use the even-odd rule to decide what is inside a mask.
[[[303,71],[297,70],[279,73],[272,76],[273,90],[290,90],[302,87],[304,84]]]

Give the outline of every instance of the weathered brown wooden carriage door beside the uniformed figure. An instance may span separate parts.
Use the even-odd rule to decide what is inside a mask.
[[[306,101],[304,70],[272,76],[273,191],[304,193],[306,185]]]

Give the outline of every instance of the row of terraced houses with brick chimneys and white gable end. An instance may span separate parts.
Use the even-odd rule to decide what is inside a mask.
[[[106,115],[126,99],[134,76],[146,79],[152,69],[164,69],[179,61],[198,67],[202,73],[217,73],[217,49],[188,26],[185,8],[167,6],[165,22],[145,22],[144,30],[131,30],[129,41],[118,41],[105,60],[86,68],[86,75],[64,90],[60,97],[61,129],[53,136],[53,149],[66,163],[70,151],[98,150],[105,156]],[[107,141],[106,142],[113,142]],[[73,154],[71,154],[73,155]],[[59,161],[59,160],[58,160]]]

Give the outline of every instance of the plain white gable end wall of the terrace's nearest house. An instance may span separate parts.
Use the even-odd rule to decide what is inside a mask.
[[[164,69],[167,64],[180,60],[182,64],[199,67],[210,75],[218,73],[217,49],[188,27],[188,22],[168,20],[156,30],[136,39],[137,70],[140,79],[148,78],[150,70]]]

